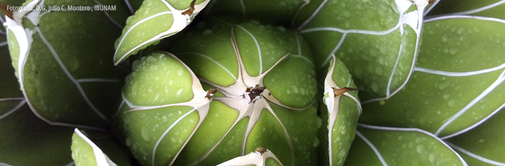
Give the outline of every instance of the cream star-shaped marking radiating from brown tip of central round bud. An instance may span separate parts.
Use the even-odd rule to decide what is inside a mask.
[[[245,117],[249,117],[246,131],[244,133],[244,138],[242,140],[241,154],[244,155],[247,137],[249,136],[252,128],[255,126],[255,124],[260,119],[261,112],[264,109],[268,110],[277,119],[277,121],[281,125],[282,129],[284,130],[284,134],[285,134],[287,142],[291,148],[291,152],[295,153],[296,149],[293,146],[291,137],[289,136],[286,128],[284,127],[284,124],[277,117],[277,114],[272,110],[270,103],[273,103],[273,104],[278,105],[283,108],[287,108],[287,109],[291,109],[291,110],[295,110],[295,111],[301,111],[301,110],[305,110],[305,109],[311,107],[314,102],[305,108],[293,108],[293,107],[289,107],[289,106],[282,104],[279,100],[277,100],[272,95],[272,93],[268,89],[264,89],[263,92],[261,92],[261,94],[259,96],[257,96],[255,100],[250,100],[247,97],[248,93],[244,92],[248,88],[264,87],[263,78],[265,77],[265,75],[267,75],[268,72],[272,70],[272,68],[277,66],[282,60],[284,60],[287,56],[289,56],[290,53],[287,53],[286,55],[281,57],[274,65],[272,65],[272,67],[270,67],[265,72],[263,72],[263,73],[260,72],[261,73],[260,75],[251,76],[247,73],[247,70],[245,69],[245,66],[244,66],[244,63],[242,60],[242,57],[240,55],[240,51],[239,51],[237,41],[236,41],[235,35],[234,35],[234,28],[232,28],[231,31],[232,32],[231,32],[230,40],[233,45],[233,49],[235,51],[235,56],[238,61],[238,78],[237,78],[237,80],[234,82],[234,84],[232,84],[228,87],[223,87],[223,86],[214,84],[213,82],[210,82],[210,81],[205,80],[203,78],[200,78],[200,81],[216,88],[219,92],[223,93],[225,97],[216,97],[216,98],[213,98],[213,100],[220,101],[223,104],[227,105],[228,107],[237,110],[239,115],[238,115],[237,119],[233,122],[231,127],[228,129],[228,131],[226,131],[226,133],[223,135],[223,137],[221,137],[221,139],[197,162],[201,162],[205,158],[207,158],[211,154],[211,152],[221,143],[221,141],[223,141],[224,137],[226,135],[228,135],[228,133],[231,131],[231,129],[240,120],[242,120]],[[251,34],[249,34],[249,35],[251,35]],[[252,37],[254,38],[254,36],[252,36]],[[259,47],[258,47],[258,49],[259,49]],[[260,61],[261,61],[261,59],[260,59]]]

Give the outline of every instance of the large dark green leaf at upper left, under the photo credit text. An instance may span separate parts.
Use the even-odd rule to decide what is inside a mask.
[[[116,5],[117,10],[17,11],[14,20],[6,17],[12,64],[23,94],[35,114],[50,124],[93,129],[108,124],[124,73],[110,59],[113,38],[120,35],[114,33],[120,30],[116,20],[124,20],[128,12],[117,1],[25,4],[34,8],[97,4]]]

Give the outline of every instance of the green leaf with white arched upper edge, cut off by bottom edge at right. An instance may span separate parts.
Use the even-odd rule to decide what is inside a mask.
[[[359,126],[344,165],[468,165],[456,151],[429,132]]]

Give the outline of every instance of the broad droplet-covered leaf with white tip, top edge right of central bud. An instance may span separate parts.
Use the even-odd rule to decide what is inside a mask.
[[[363,101],[389,98],[409,79],[427,0],[311,1],[296,25],[327,68],[332,55],[354,75]]]

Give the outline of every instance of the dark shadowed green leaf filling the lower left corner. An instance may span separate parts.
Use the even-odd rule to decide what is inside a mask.
[[[72,129],[51,126],[31,112],[19,90],[7,50],[7,45],[0,46],[0,165],[72,162],[69,150]]]

